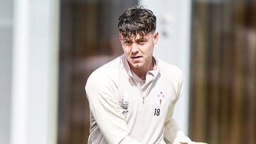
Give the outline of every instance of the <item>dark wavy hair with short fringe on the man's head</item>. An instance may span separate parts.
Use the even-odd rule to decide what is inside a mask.
[[[118,19],[119,34],[123,38],[144,35],[156,31],[156,16],[144,6],[132,7],[124,11]]]

